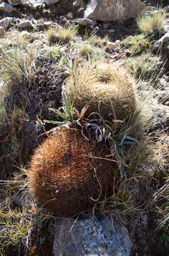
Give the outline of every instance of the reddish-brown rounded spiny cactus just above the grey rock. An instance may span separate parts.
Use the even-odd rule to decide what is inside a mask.
[[[62,127],[35,150],[30,188],[59,216],[83,212],[112,192],[116,163],[103,159],[106,154],[102,143],[87,142],[78,129]]]

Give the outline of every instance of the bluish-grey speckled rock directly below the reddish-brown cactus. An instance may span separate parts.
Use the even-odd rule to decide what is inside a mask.
[[[129,256],[131,247],[127,229],[102,215],[97,219],[59,220],[53,255]]]

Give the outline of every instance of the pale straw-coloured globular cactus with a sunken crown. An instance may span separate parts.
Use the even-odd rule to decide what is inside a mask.
[[[86,62],[66,80],[63,91],[79,112],[86,104],[86,114],[100,112],[107,120],[125,120],[136,112],[135,82],[115,63]]]

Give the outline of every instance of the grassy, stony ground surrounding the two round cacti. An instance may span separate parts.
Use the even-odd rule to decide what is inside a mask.
[[[88,55],[124,65],[137,81],[139,97],[147,99],[144,114],[151,112],[151,118],[143,133],[153,159],[138,164],[134,194],[143,206],[134,207],[133,213],[127,205],[113,209],[113,217],[129,231],[131,256],[169,255],[168,1],[144,1],[147,15],[154,6],[166,11],[163,29],[151,36],[138,31],[134,18],[84,24],[87,2],[73,10],[69,0],[39,6],[27,2],[8,6],[11,11],[0,7],[1,255],[52,255],[56,216],[34,202],[26,174],[33,150],[54,127],[44,122],[56,119],[49,108],[62,106],[62,85],[74,63],[81,65]],[[66,39],[59,34],[62,28],[69,30]]]

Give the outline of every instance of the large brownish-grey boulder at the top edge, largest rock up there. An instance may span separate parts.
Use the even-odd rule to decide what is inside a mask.
[[[141,0],[91,0],[84,17],[98,21],[119,21],[134,18],[145,9],[146,5]]]

